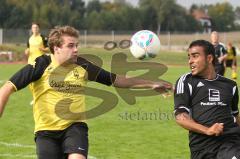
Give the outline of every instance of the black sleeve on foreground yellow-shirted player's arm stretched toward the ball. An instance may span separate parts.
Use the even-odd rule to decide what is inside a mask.
[[[95,81],[110,86],[116,79],[116,74],[108,72],[81,57],[78,57],[77,64],[87,71],[89,81]]]

